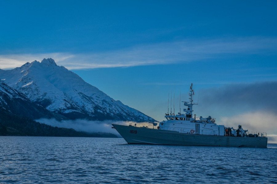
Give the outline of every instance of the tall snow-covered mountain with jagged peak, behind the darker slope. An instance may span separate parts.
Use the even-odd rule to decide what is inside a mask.
[[[32,102],[69,119],[153,122],[153,118],[112,99],[86,83],[74,72],[57,66],[51,58],[33,61],[12,70],[1,70],[0,78]]]

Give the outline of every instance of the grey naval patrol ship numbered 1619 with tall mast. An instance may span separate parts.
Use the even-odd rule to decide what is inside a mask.
[[[193,116],[194,90],[192,84],[189,102],[183,102],[185,114],[166,113],[166,121],[153,123],[153,128],[112,124],[128,144],[165,144],[186,146],[223,146],[223,147],[267,147],[267,135],[262,132],[249,133],[243,130],[217,125],[215,118]]]

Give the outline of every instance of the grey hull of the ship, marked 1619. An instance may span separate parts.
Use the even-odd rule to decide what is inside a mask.
[[[267,147],[267,137],[232,137],[216,135],[183,134],[177,131],[159,130],[112,124],[128,144],[165,144],[185,146]]]

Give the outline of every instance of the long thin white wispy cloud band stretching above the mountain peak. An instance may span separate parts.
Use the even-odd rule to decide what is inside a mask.
[[[52,57],[68,69],[166,65],[224,57],[224,54],[261,54],[277,51],[277,38],[246,37],[224,39],[191,39],[137,45],[128,49],[99,53],[41,53],[0,55],[0,68],[11,69],[34,60]]]

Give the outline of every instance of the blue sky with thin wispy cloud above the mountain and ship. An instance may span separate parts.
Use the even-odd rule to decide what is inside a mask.
[[[1,1],[0,68],[51,57],[159,121],[168,92],[175,92],[179,109],[180,91],[187,100],[194,83],[200,106],[195,111],[205,116],[200,104],[206,94],[241,84],[248,86],[241,91],[246,95],[257,85],[276,90],[276,12],[277,1]],[[274,94],[256,95],[277,103]],[[253,98],[242,101],[237,105]],[[276,116],[268,104],[260,110],[225,105],[215,112],[222,121],[238,114]],[[276,125],[270,126],[277,134]]]

